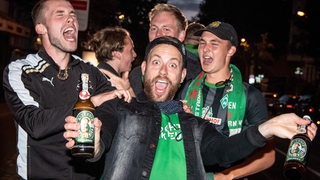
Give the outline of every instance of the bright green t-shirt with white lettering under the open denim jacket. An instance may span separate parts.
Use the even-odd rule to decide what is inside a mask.
[[[150,180],[187,179],[186,158],[177,114],[161,113],[161,132]]]

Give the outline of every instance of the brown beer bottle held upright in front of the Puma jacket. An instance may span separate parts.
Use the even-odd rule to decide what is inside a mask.
[[[82,90],[74,105],[73,115],[80,124],[79,136],[75,138],[75,145],[71,153],[75,157],[91,158],[94,153],[94,105],[90,101],[88,90],[89,74],[81,74]]]

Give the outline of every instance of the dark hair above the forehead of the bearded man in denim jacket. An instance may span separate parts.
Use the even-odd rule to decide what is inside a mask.
[[[186,67],[186,64],[187,64],[186,50],[184,48],[183,43],[179,39],[177,39],[175,37],[170,37],[170,36],[158,37],[158,38],[154,39],[153,41],[149,42],[149,44],[146,47],[146,51],[145,51],[145,56],[144,56],[145,61],[148,60],[150,51],[159,44],[169,44],[169,45],[176,47],[182,56],[183,67]]]

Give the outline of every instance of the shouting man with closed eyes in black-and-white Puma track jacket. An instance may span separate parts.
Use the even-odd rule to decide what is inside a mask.
[[[96,67],[71,55],[77,49],[79,24],[69,1],[38,1],[32,18],[42,48],[11,62],[3,78],[17,125],[18,175],[21,179],[96,179],[99,167],[76,161],[65,148],[64,119],[78,100],[81,73],[89,74],[89,92],[95,95],[91,100],[96,106],[128,92],[114,90]]]

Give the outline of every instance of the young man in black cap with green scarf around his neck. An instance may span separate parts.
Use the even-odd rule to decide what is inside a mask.
[[[225,136],[233,136],[246,128],[268,119],[261,92],[242,81],[239,69],[230,64],[238,46],[238,37],[232,25],[214,21],[195,35],[200,36],[199,57],[202,72],[189,82],[180,96],[192,112]],[[220,172],[214,179],[238,179],[269,168],[275,161],[270,141],[244,161],[230,164],[230,168],[207,167]]]

